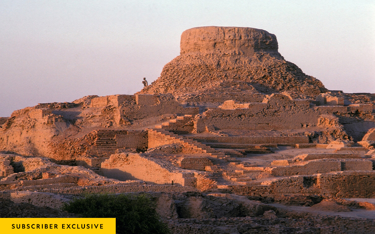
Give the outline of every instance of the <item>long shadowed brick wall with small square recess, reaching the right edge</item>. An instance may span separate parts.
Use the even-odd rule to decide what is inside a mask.
[[[375,171],[334,171],[278,178],[261,184],[225,186],[223,189],[239,195],[263,197],[263,199],[293,195],[375,198],[374,183]]]

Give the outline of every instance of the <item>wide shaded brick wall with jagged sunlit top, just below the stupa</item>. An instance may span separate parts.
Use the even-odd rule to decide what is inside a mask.
[[[224,107],[224,109],[223,109]],[[237,109],[239,108],[239,109]],[[205,111],[206,125],[232,129],[296,129],[318,124],[319,113],[309,108],[309,102],[283,94],[272,94],[263,103],[228,101],[222,108]]]

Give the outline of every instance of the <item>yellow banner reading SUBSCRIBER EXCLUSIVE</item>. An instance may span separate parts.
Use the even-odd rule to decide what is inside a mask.
[[[115,218],[0,218],[6,234],[115,234]]]

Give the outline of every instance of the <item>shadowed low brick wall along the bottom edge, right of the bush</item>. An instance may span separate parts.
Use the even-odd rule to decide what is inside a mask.
[[[220,219],[169,219],[175,234],[375,234],[374,219],[341,216],[306,216],[303,218],[236,217]]]

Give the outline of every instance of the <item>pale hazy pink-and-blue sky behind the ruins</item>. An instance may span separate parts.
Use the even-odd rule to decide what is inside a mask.
[[[37,103],[133,94],[199,26],[261,28],[328,89],[375,92],[375,0],[0,0],[0,116]]]

